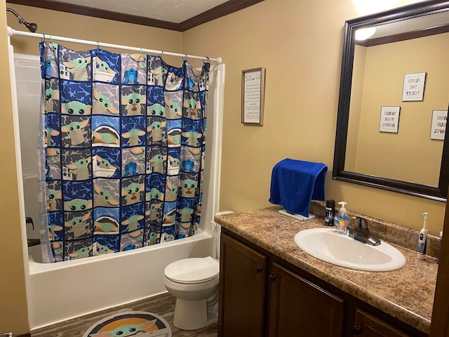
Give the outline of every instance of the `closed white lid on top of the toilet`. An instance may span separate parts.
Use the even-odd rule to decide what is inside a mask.
[[[220,273],[220,263],[211,258],[185,258],[170,263],[164,270],[168,279],[177,283],[194,284],[214,279]]]

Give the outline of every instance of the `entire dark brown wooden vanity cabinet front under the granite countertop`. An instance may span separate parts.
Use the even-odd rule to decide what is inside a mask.
[[[222,227],[218,337],[424,337]]]

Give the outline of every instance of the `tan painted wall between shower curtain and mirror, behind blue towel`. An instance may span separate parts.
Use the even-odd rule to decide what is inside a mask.
[[[416,228],[427,211],[441,230],[442,202],[331,179],[344,20],[358,16],[351,0],[265,0],[184,33],[186,53],[226,63],[220,210],[270,206],[272,168],[289,157],[326,164],[326,197],[349,210]],[[267,69],[264,126],[243,126],[241,71],[255,67]]]

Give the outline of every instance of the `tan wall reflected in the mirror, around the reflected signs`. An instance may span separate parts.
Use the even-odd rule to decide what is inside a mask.
[[[431,140],[432,110],[447,110],[449,33],[366,49],[356,171],[438,186],[443,140]],[[424,100],[402,102],[404,74],[427,72]],[[362,96],[359,96],[362,98]],[[398,133],[379,131],[382,105],[401,107]]]

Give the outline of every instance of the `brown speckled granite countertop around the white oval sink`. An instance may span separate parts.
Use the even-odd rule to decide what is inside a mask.
[[[416,251],[389,242],[406,257],[407,263],[401,269],[366,272],[332,265],[305,253],[293,241],[301,230],[327,227],[323,219],[295,220],[281,215],[279,209],[272,207],[220,215],[215,221],[311,275],[429,333],[438,270],[436,258],[426,256],[424,260],[418,260]]]

